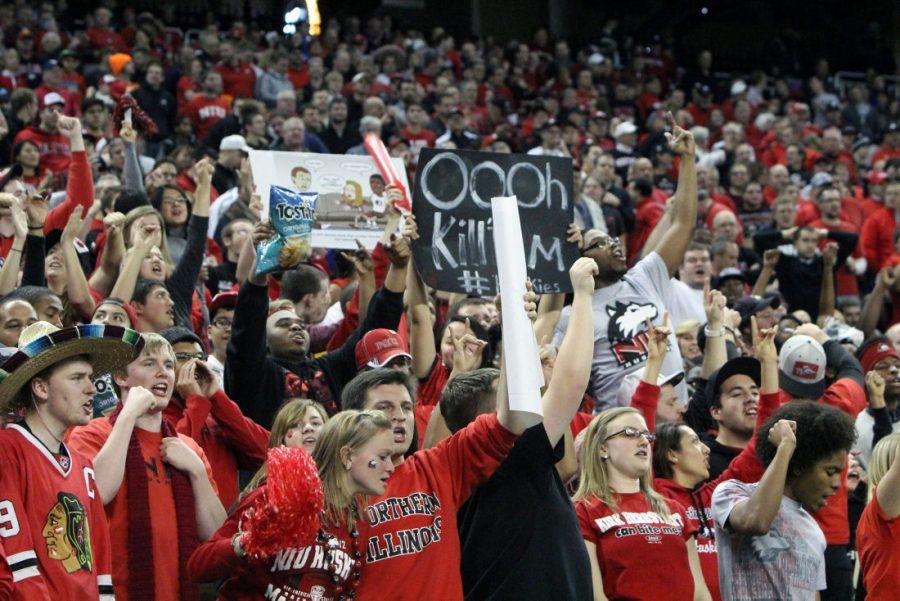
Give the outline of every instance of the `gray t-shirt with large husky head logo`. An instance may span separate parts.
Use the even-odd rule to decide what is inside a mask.
[[[671,296],[669,271],[655,252],[641,259],[612,286],[594,291],[594,359],[591,363],[590,392],[598,410],[616,406],[616,392],[626,375],[647,362],[647,325],[661,325]],[[553,335],[559,346],[569,323],[570,307],[563,309]],[[670,323],[671,325],[671,323]],[[682,371],[681,352],[674,328],[669,337],[669,352],[662,373]],[[676,388],[682,403],[687,403],[687,388],[682,381]]]

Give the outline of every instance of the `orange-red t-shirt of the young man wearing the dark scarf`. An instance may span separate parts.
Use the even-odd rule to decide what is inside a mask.
[[[112,432],[109,419],[101,417],[91,421],[87,426],[72,430],[69,445],[76,451],[93,459],[106,444]],[[155,599],[178,599],[181,595],[178,568],[178,524],[175,520],[175,497],[172,488],[172,476],[169,464],[163,462],[159,452],[163,436],[159,432],[149,432],[135,428],[141,454],[146,466],[147,494],[150,501],[150,522],[153,537],[153,566],[155,577]],[[212,469],[206,461],[206,455],[197,443],[179,434],[178,437],[192,451],[200,456],[206,467],[206,475],[212,483]],[[116,599],[127,601],[128,597],[128,474],[126,471],[119,492],[106,505],[106,516],[109,518],[109,538],[113,552],[113,586]],[[217,491],[218,494],[218,491]]]

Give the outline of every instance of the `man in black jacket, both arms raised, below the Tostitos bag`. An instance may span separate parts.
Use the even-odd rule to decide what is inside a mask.
[[[271,224],[258,224],[252,248],[274,233]],[[285,399],[292,397],[318,401],[329,413],[339,410],[340,391],[357,372],[356,343],[375,328],[396,330],[403,312],[409,241],[396,239],[385,250],[391,266],[365,319],[340,348],[316,358],[308,355],[306,322],[293,307],[269,314],[268,276],[251,275],[244,282],[225,353],[225,392],[244,415],[270,428]],[[250,273],[255,271],[254,265]]]

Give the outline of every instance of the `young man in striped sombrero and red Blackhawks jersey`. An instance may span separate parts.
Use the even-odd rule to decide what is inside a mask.
[[[3,364],[0,409],[24,419],[0,430],[0,598],[113,598],[94,467],[62,440],[91,419],[93,374],[120,369],[142,343],[133,330],[41,321],[22,331],[19,352]]]

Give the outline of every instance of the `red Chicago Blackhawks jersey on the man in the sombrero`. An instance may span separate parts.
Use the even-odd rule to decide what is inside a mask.
[[[109,531],[91,462],[0,431],[0,541],[15,600],[113,599]]]

